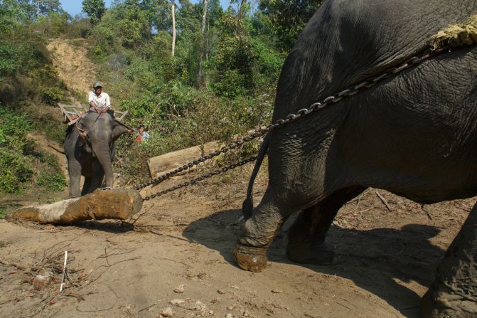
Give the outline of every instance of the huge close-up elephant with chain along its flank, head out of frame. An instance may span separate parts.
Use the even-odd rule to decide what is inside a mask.
[[[286,58],[272,122],[400,65],[476,13],[475,0],[326,1]],[[295,211],[287,256],[323,264],[333,256],[324,243],[333,218],[368,187],[419,203],[476,196],[475,43],[274,129],[266,151],[269,184],[234,250],[237,264],[254,272],[266,267],[267,248]],[[451,246],[460,252],[439,267],[423,307],[429,317],[477,317],[476,219]]]

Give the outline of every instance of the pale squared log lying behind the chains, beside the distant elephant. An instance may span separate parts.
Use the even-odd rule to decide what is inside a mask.
[[[210,152],[214,152],[220,147],[220,142],[208,142],[203,146],[195,146],[191,148],[181,149],[176,152],[169,152],[161,156],[153,157],[147,160],[149,166],[149,174],[151,178],[157,178],[166,174],[168,171],[183,166],[189,161],[198,159]]]

